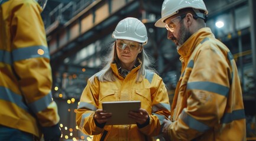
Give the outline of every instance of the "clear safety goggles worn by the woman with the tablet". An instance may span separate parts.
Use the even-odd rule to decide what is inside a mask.
[[[122,40],[116,40],[116,46],[119,49],[124,50],[127,46],[130,51],[137,51],[141,47],[141,43],[138,42],[124,42]]]

